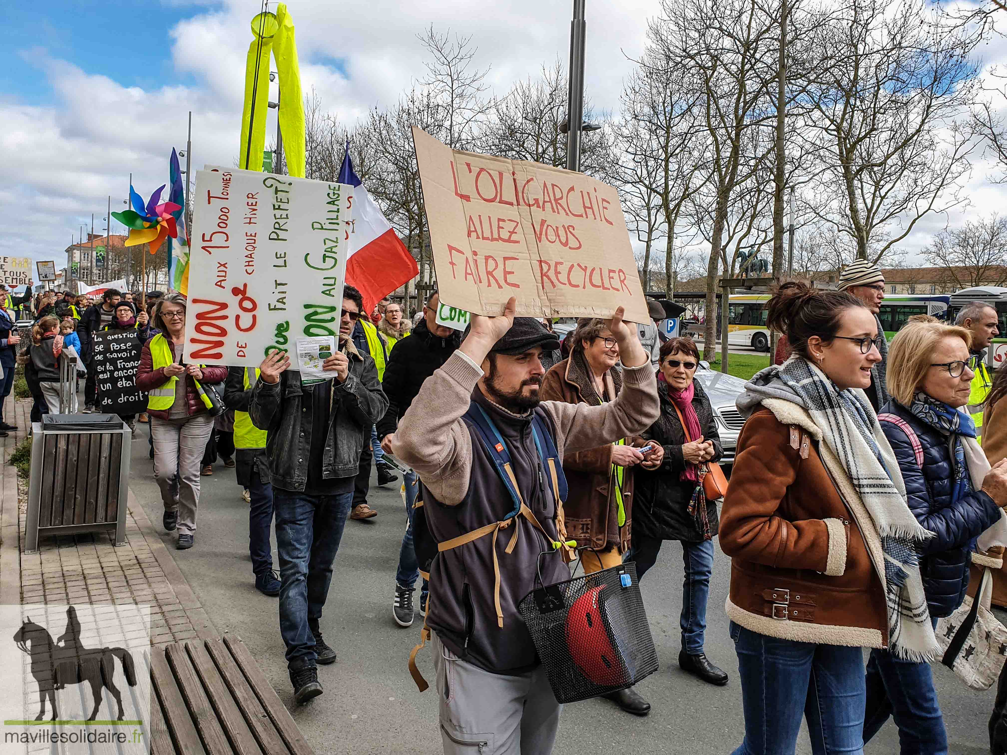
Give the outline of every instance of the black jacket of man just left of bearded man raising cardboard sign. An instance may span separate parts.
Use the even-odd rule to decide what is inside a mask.
[[[388,414],[378,427],[382,437],[395,432],[396,423],[420,393],[423,382],[443,366],[460,342],[459,331],[452,330],[447,338],[439,338],[430,332],[426,320],[420,320],[413,332],[395,344],[382,381],[389,401]]]

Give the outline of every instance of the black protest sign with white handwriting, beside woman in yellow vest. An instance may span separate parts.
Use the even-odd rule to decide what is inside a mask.
[[[135,328],[102,330],[92,336],[99,412],[138,414],[147,411],[147,392],[136,387],[143,341]]]

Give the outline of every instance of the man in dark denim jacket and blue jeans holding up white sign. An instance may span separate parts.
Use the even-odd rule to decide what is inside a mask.
[[[353,499],[361,450],[371,439],[371,426],[388,411],[374,359],[350,338],[363,303],[355,288],[344,287],[338,349],[322,363],[332,379],[302,382],[300,371],[287,369],[290,357],[273,351],[259,367],[249,406],[255,426],[268,431],[280,633],[298,704],[322,693],[315,663],[335,661],[335,650],[319,629],[321,612]]]

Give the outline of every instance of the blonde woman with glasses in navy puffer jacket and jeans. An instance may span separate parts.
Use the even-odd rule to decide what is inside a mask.
[[[891,400],[878,419],[895,452],[909,508],[932,537],[917,546],[929,616],[965,598],[976,539],[1007,505],[1007,461],[990,469],[976,442],[969,403],[971,333],[932,317],[910,318],[888,349]],[[929,663],[881,648],[867,663],[864,741],[891,716],[903,755],[948,752]]]

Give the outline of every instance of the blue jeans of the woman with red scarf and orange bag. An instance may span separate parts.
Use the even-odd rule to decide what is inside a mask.
[[[632,539],[632,549],[627,561],[636,562],[636,578],[643,575],[658,561],[661,541],[657,538]],[[682,559],[685,561],[685,581],[682,585],[682,649],[690,655],[703,652],[706,633],[706,604],[710,597],[710,577],[713,575],[713,541],[702,543],[682,542]]]

